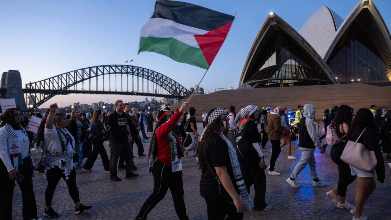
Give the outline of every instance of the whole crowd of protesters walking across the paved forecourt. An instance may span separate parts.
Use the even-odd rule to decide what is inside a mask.
[[[362,209],[376,188],[375,171],[377,180],[384,183],[382,152],[391,159],[391,114],[387,107],[376,109],[377,106],[371,105],[370,109],[359,109],[356,113],[346,105],[333,106],[331,111],[325,109],[325,135],[318,137],[314,121],[316,109],[311,104],[298,105],[296,111],[284,106],[274,109],[262,106],[258,109],[254,105],[241,106],[238,112],[235,106],[208,112],[203,110],[202,132],[197,131],[196,109],[190,107],[187,112],[187,106],[188,102],[183,102],[175,112],[169,108],[158,111],[156,125],[153,126],[154,116],[151,113],[131,109],[122,100],[117,100],[114,111],[106,115],[100,110],[88,113],[92,115],[91,120],[78,109],[73,109],[67,118],[66,114],[56,113],[57,104],[52,104],[36,134],[26,131],[29,123],[26,115],[16,108],[7,109],[0,117],[0,143],[6,143],[0,147],[0,185],[3,187],[0,191],[0,219],[12,217],[15,180],[22,191],[23,219],[39,219],[32,185],[34,170],[43,172],[47,180],[44,216],[59,216],[52,208],[52,199],[61,178],[68,185],[75,214],[90,210],[92,206],[81,204],[76,169],[90,172],[100,155],[104,172],[110,173],[109,180],[121,181],[117,169],[125,169],[127,179],[137,178],[138,174],[133,172],[138,169],[134,162],[133,145],[136,143],[138,156],[145,157],[142,142],[149,141],[148,163],[154,185],[136,220],[147,219],[148,213],[165,197],[168,189],[178,218],[188,219],[183,199],[181,162],[181,158],[188,156],[196,157],[201,170],[199,189],[206,202],[208,219],[240,220],[244,218],[245,210],[273,209],[265,199],[265,170],[270,176],[280,176],[276,164],[281,163],[278,160],[281,148],[287,146],[288,159],[297,159],[292,155],[292,141],[296,139],[301,157],[287,183],[300,188],[296,178],[308,164],[312,185],[326,186],[317,174],[319,168],[316,167],[315,151],[318,148],[320,153],[325,153],[331,143],[330,157],[338,167],[339,176],[335,187],[326,194],[337,208],[349,210],[354,215],[352,219],[366,219]],[[42,118],[39,113],[34,116]],[[150,140],[147,134],[151,135]],[[321,144],[324,138],[326,141]],[[109,156],[104,141],[109,142]],[[262,152],[262,148],[268,148],[268,141],[271,142],[269,165],[265,163]],[[377,164],[374,167],[358,167],[343,160],[343,154],[352,152],[350,142],[362,144],[373,153]],[[30,152],[38,148],[42,153],[36,166]],[[363,164],[371,164],[370,157],[364,160],[368,161]],[[355,180],[355,205],[352,205],[346,201],[346,191]],[[252,185],[255,191],[253,200],[249,196]]]

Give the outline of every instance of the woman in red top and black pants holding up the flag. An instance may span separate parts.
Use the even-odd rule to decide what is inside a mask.
[[[149,172],[152,172],[154,187],[152,194],[144,202],[135,220],[146,220],[148,213],[165,197],[170,188],[174,208],[179,220],[188,220],[183,200],[182,163],[180,151],[181,139],[172,132],[188,102],[172,114],[169,110],[160,110],[156,117],[156,126],[149,148]]]

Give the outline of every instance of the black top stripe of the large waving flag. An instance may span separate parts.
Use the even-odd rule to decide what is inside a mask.
[[[164,18],[176,23],[211,31],[233,21],[233,16],[198,5],[161,0],[156,1],[151,18]]]

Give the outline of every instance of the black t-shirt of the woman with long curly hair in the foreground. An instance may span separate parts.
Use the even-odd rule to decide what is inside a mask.
[[[206,161],[210,164],[212,169],[215,172],[214,167],[227,167],[228,175],[232,180],[232,184],[235,188],[236,183],[234,181],[232,165],[230,160],[230,155],[228,154],[228,146],[227,143],[222,139],[218,134],[215,134],[215,141],[213,143],[208,143],[203,148],[203,156],[204,162],[202,165],[202,174],[201,180],[199,182],[199,188],[202,197],[215,197],[220,195],[219,193],[219,185],[217,180],[214,178],[214,173],[211,174],[209,172],[208,166],[206,165]]]

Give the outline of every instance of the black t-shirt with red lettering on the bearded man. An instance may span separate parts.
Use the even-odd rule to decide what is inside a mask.
[[[122,114],[119,115],[117,111],[111,113],[107,118],[107,125],[111,128],[109,142],[117,144],[128,142],[129,136],[127,134],[126,125],[129,125],[130,123],[132,122],[129,120],[128,114],[122,112]]]

